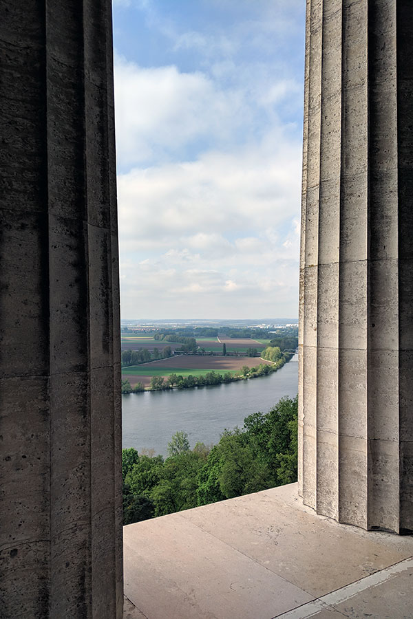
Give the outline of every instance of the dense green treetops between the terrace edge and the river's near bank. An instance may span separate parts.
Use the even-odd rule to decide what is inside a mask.
[[[177,432],[168,457],[123,449],[124,524],[232,499],[297,480],[297,398],[254,413],[215,446]]]

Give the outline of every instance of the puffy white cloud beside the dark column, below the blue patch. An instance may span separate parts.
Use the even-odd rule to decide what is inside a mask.
[[[116,144],[120,166],[171,158],[197,140],[222,144],[248,120],[240,91],[201,72],[142,68],[115,57]]]

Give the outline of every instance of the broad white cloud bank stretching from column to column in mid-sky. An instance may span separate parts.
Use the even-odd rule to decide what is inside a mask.
[[[268,142],[268,140],[267,140]],[[134,169],[118,178],[124,249],[189,237],[187,246],[225,252],[222,235],[288,224],[299,213],[301,146],[273,135],[235,153],[210,152],[195,162]],[[271,232],[268,230],[268,235]],[[284,239],[285,240],[285,239]],[[243,241],[244,246],[247,241]]]

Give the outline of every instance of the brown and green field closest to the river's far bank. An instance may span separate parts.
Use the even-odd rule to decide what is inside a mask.
[[[151,376],[167,377],[172,373],[181,374],[182,376],[202,376],[207,372],[236,372],[243,365],[248,367],[256,367],[260,363],[272,365],[269,361],[262,361],[257,357],[213,357],[213,356],[198,356],[198,355],[180,355],[177,357],[169,357],[169,359],[160,359],[150,363],[142,363],[142,365],[134,365],[132,367],[124,367],[122,369],[122,378],[127,378],[134,387],[136,383],[142,382],[145,387],[149,387]]]

